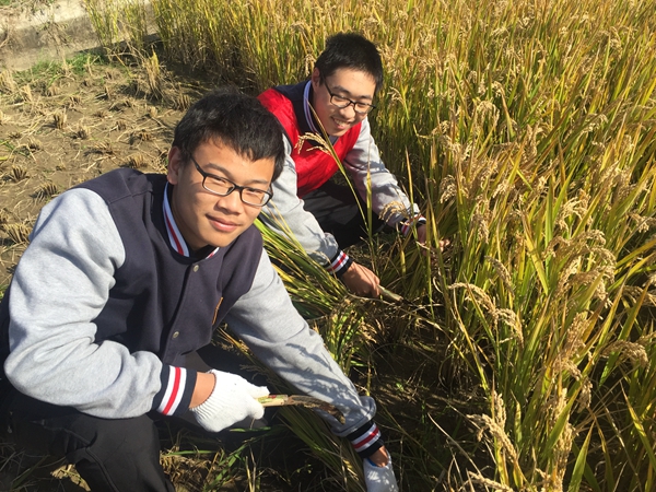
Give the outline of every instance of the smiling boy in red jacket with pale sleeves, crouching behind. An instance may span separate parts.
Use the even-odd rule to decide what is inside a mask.
[[[350,187],[329,180],[338,172],[333,157],[317,141],[302,137],[328,134],[363,210],[371,188],[374,230],[387,224],[408,234],[417,227],[418,241],[425,243],[426,221],[385,168],[371,133],[367,114],[382,84],[376,46],[359,34],[340,33],[328,38],[308,81],[279,85],[259,96],[285,130],[286,152],[282,174],[272,185],[273,198],[260,219],[279,232],[285,224],[351,292],[374,297],[380,295],[378,277],[343,251],[366,235],[358,198]]]

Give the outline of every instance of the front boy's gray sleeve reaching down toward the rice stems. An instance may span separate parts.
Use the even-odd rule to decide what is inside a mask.
[[[344,413],[345,424],[323,414],[336,434],[349,435],[370,422],[376,410],[374,400],[358,395],[325,349],[321,337],[296,312],[266,253],[253,288],[225,319],[262,363],[300,391],[328,401]]]

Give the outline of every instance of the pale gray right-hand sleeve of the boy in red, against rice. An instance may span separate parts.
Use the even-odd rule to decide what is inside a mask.
[[[365,202],[367,184],[371,183],[372,208],[388,225],[397,226],[400,222],[419,215],[417,204],[410,202],[396,177],[380,160],[367,118],[362,121],[355,145],[344,157],[344,167]]]

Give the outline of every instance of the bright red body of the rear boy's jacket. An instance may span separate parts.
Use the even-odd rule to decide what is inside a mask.
[[[298,84],[298,87],[304,87],[305,82]],[[335,159],[325,151],[320,150],[315,142],[304,140],[298,145],[300,133],[300,118],[305,119],[305,114],[302,113],[301,105],[296,105],[296,112],[294,105],[285,95],[277,91],[276,89],[269,89],[262,92],[258,98],[269,109],[282,127],[286,131],[286,134],[292,144],[292,160],[296,166],[297,176],[297,191],[298,198],[303,198],[308,192],[319,188],[324,183],[332,177],[339,169]],[[349,153],[355,145],[358,137],[360,136],[360,125],[355,125],[343,136],[337,139],[337,142],[332,144],[335,153],[340,161]]]

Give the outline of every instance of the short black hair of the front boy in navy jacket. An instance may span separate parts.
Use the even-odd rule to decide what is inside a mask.
[[[276,161],[273,178],[282,172],[285,159],[282,127],[255,97],[233,87],[216,89],[194,103],[175,127],[173,147],[185,164],[204,143],[216,140],[250,161]]]

